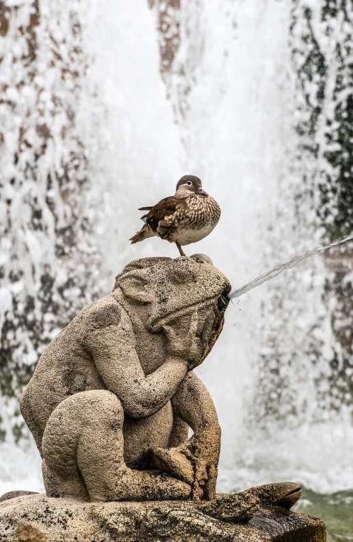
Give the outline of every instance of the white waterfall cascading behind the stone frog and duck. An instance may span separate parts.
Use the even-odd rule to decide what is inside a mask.
[[[5,73],[0,64],[0,92],[8,93],[9,100],[8,110],[0,110],[0,115],[7,123],[18,119],[17,138],[22,138],[25,149],[20,171],[26,172],[23,178],[28,183],[26,164],[37,164],[38,181],[31,177],[31,197],[38,198],[44,217],[37,229],[31,217],[21,217],[18,205],[26,200],[18,192],[10,197],[17,202],[11,204],[16,221],[7,223],[9,197],[1,193],[1,226],[10,224],[6,230],[10,241],[5,243],[10,256],[3,263],[7,274],[0,289],[8,304],[5,312],[3,301],[3,318],[16,317],[11,311],[18,296],[40,295],[44,271],[59,304],[55,308],[49,304],[49,310],[44,303],[36,304],[36,321],[43,330],[38,344],[30,333],[22,335],[29,347],[14,356],[16,370],[24,375],[14,384],[17,395],[43,345],[75,311],[109,292],[114,276],[129,260],[177,256],[174,246],[157,238],[133,246],[127,239],[140,227],[138,207],[171,195],[185,173],[200,176],[222,208],[218,227],[198,245],[187,247],[187,254],[208,254],[233,288],[320,244],[315,195],[303,183],[304,173],[315,169],[316,158],[298,156],[302,136],[296,130],[298,89],[289,3],[106,0],[83,5],[65,0],[57,8],[49,0],[5,4],[11,32],[16,17],[22,21],[17,26],[29,25],[39,5],[39,19],[32,23],[47,41],[38,40],[37,56],[31,60],[34,72],[42,70],[42,75],[26,74],[29,83],[20,90],[16,75]],[[75,25],[70,26],[69,13]],[[0,46],[19,55],[4,24],[8,23],[0,25]],[[33,38],[31,25],[29,36]],[[66,59],[62,70],[71,68],[64,71],[68,82],[62,71],[53,73],[58,58]],[[17,97],[14,90],[9,92],[12,87]],[[28,88],[27,95],[23,88]],[[38,97],[31,94],[34,90]],[[33,126],[21,126],[23,103],[30,101],[27,107],[33,115],[43,95],[42,114],[48,122],[57,112],[54,136],[44,128],[38,132],[34,120]],[[50,99],[53,95],[55,100]],[[15,108],[10,103],[14,100]],[[7,136],[9,125],[0,125],[0,132],[6,127]],[[23,136],[21,127],[32,139]],[[36,158],[46,142],[49,147]],[[19,169],[16,145],[15,139],[0,146],[1,164],[10,164],[11,170],[3,170],[0,178],[10,194],[11,179]],[[72,162],[66,190],[61,168],[66,171]],[[48,182],[50,173],[53,186]],[[29,202],[28,212],[36,201]],[[73,214],[75,221],[70,220]],[[71,249],[55,251],[60,243],[66,246],[60,239],[71,223],[73,241],[65,242]],[[11,245],[15,227],[27,238],[21,262],[14,262]],[[77,261],[85,273],[76,272]],[[23,278],[12,281],[12,270],[21,266]],[[353,487],[350,407],[330,408],[326,402],[337,343],[324,299],[329,277],[318,256],[228,307],[224,332],[197,369],[222,427],[220,491],[283,479],[315,491]],[[66,306],[63,299],[73,303]],[[41,311],[51,317],[44,319]],[[29,324],[24,329],[30,329]],[[21,341],[9,337],[10,352],[11,345],[15,349]],[[21,358],[24,354],[28,356]],[[5,367],[14,371],[11,363]],[[16,431],[11,429],[21,426],[16,399],[1,391],[6,440],[0,445],[0,459],[6,468],[0,489],[40,489],[39,456],[31,441],[27,448],[16,444]]]

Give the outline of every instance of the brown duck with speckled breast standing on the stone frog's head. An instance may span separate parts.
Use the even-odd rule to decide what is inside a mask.
[[[174,196],[139,210],[148,211],[148,214],[142,217],[142,230],[129,239],[131,244],[157,235],[175,243],[181,256],[185,256],[181,247],[197,243],[209,235],[221,214],[217,201],[203,190],[200,179],[195,175],[181,177]]]

